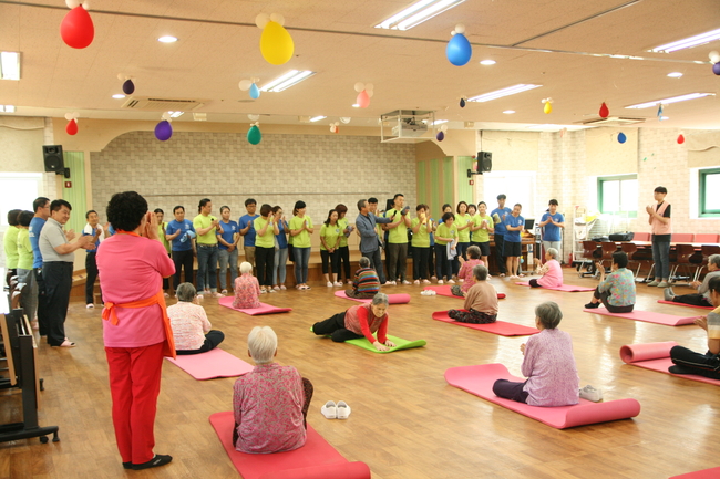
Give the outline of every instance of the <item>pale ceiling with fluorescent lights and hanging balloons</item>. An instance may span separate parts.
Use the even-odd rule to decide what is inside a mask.
[[[23,55],[22,80],[0,81],[0,104],[17,115],[160,119],[160,112],[128,112],[117,74],[134,76],[137,96],[205,98],[198,112],[210,122],[298,123],[298,116],[340,116],[374,125],[398,108],[434,110],[450,126],[523,128],[529,124],[573,125],[597,117],[601,102],[613,116],[648,118],[642,127],[720,129],[720,96],[656,108],[624,106],[692,92],[717,93],[708,53],[720,41],[671,54],[648,53],[662,43],[720,27],[718,0],[467,0],[405,32],[374,29],[411,0],[92,0],[93,43],[65,45],[60,23],[63,0],[0,0],[0,50]],[[625,8],[618,7],[628,4]],[[606,14],[598,13],[611,10]],[[259,51],[258,13],[281,13],[295,41],[285,65],[267,63]],[[586,21],[582,21],[587,19]],[[578,22],[579,21],[579,22]],[[463,23],[473,43],[465,66],[453,66],[445,45]],[[157,42],[172,34],[173,44]],[[533,40],[528,40],[533,39]],[[541,51],[541,50],[549,50]],[[642,56],[628,60],[593,54]],[[492,66],[480,60],[493,59]],[[703,62],[698,64],[696,62]],[[281,93],[251,101],[243,79],[259,84],[288,70],[315,76]],[[669,79],[681,72],[681,79]],[[374,84],[368,108],[353,108],[356,82]],[[529,92],[459,106],[474,96],[517,83],[544,85]],[[542,98],[553,97],[553,113]],[[505,110],[516,111],[506,115]],[[185,114],[176,121],[192,121]],[[513,123],[515,125],[501,125]]]

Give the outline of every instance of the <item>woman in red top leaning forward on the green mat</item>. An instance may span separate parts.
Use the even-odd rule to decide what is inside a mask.
[[[318,336],[329,335],[336,343],[366,337],[378,351],[395,347],[388,340],[388,295],[378,293],[371,303],[351,306],[348,311],[312,325],[312,332]],[[376,340],[372,334],[378,333]]]

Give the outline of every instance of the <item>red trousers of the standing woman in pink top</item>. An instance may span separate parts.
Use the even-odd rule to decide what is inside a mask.
[[[143,464],[154,457],[163,344],[105,347],[115,440],[123,462]]]

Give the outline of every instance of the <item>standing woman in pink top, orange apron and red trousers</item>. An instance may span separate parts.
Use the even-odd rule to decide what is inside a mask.
[[[125,469],[147,469],[173,458],[153,452],[163,356],[175,356],[163,278],[175,273],[157,236],[157,219],[135,191],[113,195],[107,220],[116,235],[97,248],[103,288],[103,341],[113,425]]]

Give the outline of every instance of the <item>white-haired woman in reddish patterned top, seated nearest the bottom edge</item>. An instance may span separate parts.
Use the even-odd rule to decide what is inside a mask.
[[[255,368],[233,388],[235,449],[248,454],[294,450],[305,445],[306,416],[312,383],[292,366],[280,366],[278,336],[270,326],[255,326],[247,336]]]

